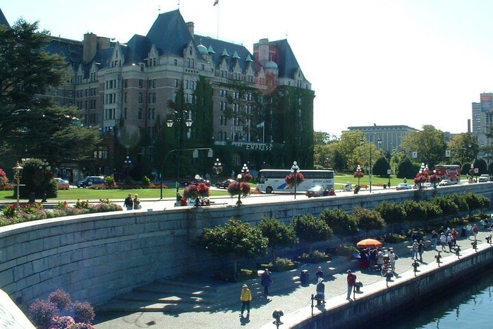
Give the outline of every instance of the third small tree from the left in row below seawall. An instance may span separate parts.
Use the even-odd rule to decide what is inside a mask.
[[[312,252],[312,243],[326,241],[332,236],[332,229],[322,219],[314,217],[312,214],[299,215],[294,217],[291,226],[303,243],[307,244],[309,251]]]

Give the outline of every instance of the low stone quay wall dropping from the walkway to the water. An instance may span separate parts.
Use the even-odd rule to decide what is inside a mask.
[[[366,328],[370,319],[388,317],[389,312],[409,308],[409,305],[421,305],[423,298],[429,299],[431,293],[443,293],[457,281],[470,279],[472,273],[490,267],[493,263],[493,247],[481,245],[475,252],[468,249],[458,259],[449,256],[438,267],[436,263],[420,267],[416,276],[412,271],[395,282],[377,282],[364,287],[364,296],[353,302],[340,302],[324,312],[316,311],[314,316],[305,308],[297,313],[296,319],[285,321],[285,328]]]

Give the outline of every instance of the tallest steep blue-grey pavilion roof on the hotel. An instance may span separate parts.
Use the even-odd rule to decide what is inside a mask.
[[[192,40],[192,35],[179,10],[173,10],[157,16],[147,38],[157,47],[160,55],[183,56],[184,47]],[[195,48],[199,53],[199,49]]]

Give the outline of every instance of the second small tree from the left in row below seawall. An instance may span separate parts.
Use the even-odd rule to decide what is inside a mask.
[[[275,251],[277,248],[290,247],[298,242],[292,226],[286,225],[277,218],[264,217],[258,227],[262,236],[268,239],[268,247],[273,260],[276,258]]]

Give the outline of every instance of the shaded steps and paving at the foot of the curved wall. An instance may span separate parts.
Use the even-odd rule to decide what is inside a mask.
[[[357,263],[338,257],[332,261],[318,264],[302,264],[298,269],[271,273],[273,284],[269,295],[283,295],[301,286],[301,271],[309,273],[309,284],[315,284],[315,272],[323,267],[325,277],[344,273],[355,268]],[[262,274],[262,271],[259,271]],[[198,281],[199,280],[199,281]],[[238,304],[243,284],[248,284],[254,300],[264,295],[260,276],[243,282],[221,282],[197,277],[177,277],[155,280],[151,284],[138,287],[129,293],[118,295],[110,302],[97,307],[97,312],[164,312],[184,313],[228,309]]]

